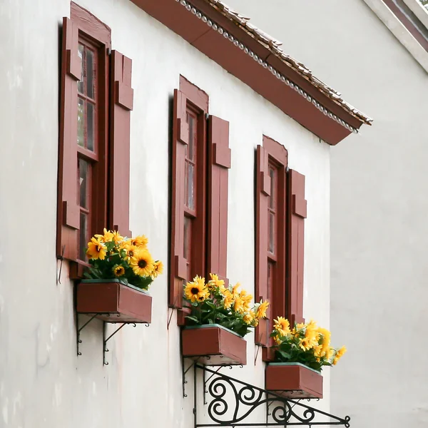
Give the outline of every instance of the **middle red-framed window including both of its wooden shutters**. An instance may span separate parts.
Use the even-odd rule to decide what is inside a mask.
[[[182,324],[183,283],[209,272],[227,279],[229,124],[208,116],[208,95],[183,76],[173,117],[169,304]]]

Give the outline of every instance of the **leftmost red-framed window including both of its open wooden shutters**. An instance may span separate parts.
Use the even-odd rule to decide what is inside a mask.
[[[108,26],[71,3],[71,19],[63,19],[57,256],[71,260],[73,277],[94,233],[129,234],[131,60],[110,48]]]

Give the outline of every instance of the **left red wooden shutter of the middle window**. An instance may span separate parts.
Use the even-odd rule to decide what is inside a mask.
[[[189,127],[186,120],[187,99],[175,89],[173,107],[173,158],[172,158],[172,215],[169,304],[183,307],[183,280],[187,278],[184,258],[184,195],[185,195],[185,146],[188,144]]]

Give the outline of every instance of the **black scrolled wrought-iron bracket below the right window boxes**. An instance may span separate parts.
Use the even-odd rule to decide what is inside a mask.
[[[210,370],[208,367],[197,363],[195,363],[194,369],[193,413],[195,414],[195,428],[315,427],[317,425],[350,427],[349,416],[341,418],[322,412],[322,410],[302,403],[302,400],[281,397],[275,392],[266,391],[238,379],[233,379],[233,377],[220,373],[218,370]],[[204,372],[204,394],[208,394],[208,400],[205,400],[204,397],[204,407],[208,404],[208,408],[201,412],[205,415],[201,421],[198,419],[197,370]],[[209,374],[208,378],[205,376],[205,372]],[[266,420],[251,421],[251,414],[260,407],[266,408]]]

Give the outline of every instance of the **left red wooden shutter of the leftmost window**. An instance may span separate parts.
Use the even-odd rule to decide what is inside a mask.
[[[78,258],[77,81],[81,78],[78,27],[63,19],[61,118],[58,156],[58,220],[56,255]]]

